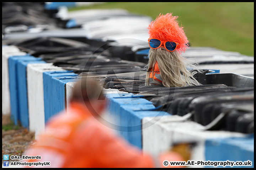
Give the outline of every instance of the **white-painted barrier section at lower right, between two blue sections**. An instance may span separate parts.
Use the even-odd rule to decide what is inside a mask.
[[[145,117],[142,120],[143,151],[157,156],[168,151],[174,143],[197,142],[198,145],[191,153],[191,160],[205,160],[206,139],[245,136],[230,131],[204,131],[203,128],[203,125],[194,121],[182,121],[182,117],[178,115]]]

